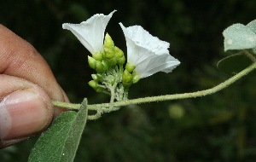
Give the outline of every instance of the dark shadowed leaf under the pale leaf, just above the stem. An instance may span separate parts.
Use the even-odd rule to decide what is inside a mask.
[[[218,61],[217,67],[219,70],[232,76],[236,75],[236,73],[238,72],[241,72],[252,63],[253,62],[249,58],[247,58],[246,55],[238,53],[235,55],[230,55],[228,57],[225,57],[221,61]],[[253,74],[255,74],[255,72]]]

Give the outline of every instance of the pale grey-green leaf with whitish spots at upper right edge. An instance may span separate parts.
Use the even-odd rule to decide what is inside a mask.
[[[253,22],[254,24],[254,22]],[[253,49],[256,47],[256,33],[251,30],[254,25],[234,24],[224,30],[224,50]]]

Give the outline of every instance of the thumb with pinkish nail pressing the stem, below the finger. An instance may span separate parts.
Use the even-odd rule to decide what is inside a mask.
[[[49,96],[38,85],[5,75],[0,79],[0,148],[4,148],[44,130],[54,111]]]

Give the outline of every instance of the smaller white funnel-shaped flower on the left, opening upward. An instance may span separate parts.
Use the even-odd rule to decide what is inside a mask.
[[[79,39],[90,54],[95,54],[102,51],[103,39],[108,21],[112,17],[113,10],[108,15],[94,14],[90,19],[81,22],[80,24],[65,23],[62,25],[63,29],[70,30]]]

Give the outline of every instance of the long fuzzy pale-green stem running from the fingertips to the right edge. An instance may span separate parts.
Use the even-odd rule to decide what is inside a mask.
[[[171,101],[171,100],[178,100],[178,99],[185,99],[185,98],[195,98],[199,96],[211,95],[219,90],[223,90],[224,88],[228,87],[230,84],[235,83],[238,79],[247,75],[247,73],[252,72],[253,69],[256,68],[256,62],[254,62],[251,66],[245,68],[241,72],[237,73],[235,76],[227,79],[221,84],[218,84],[215,87],[207,90],[201,90],[196,92],[190,93],[183,93],[183,94],[174,94],[174,95],[158,95],[158,96],[151,96],[151,97],[144,97],[144,98],[137,98],[133,100],[126,100],[126,101],[116,101],[113,103],[113,107],[124,107],[131,104],[141,104],[153,101]],[[72,104],[72,103],[65,103],[60,101],[53,101],[53,105],[57,107],[67,107],[71,109],[79,109],[80,104]],[[111,104],[112,105],[112,104]],[[110,107],[109,103],[102,103],[102,104],[93,104],[88,105],[88,109],[90,110],[97,110],[101,107]]]

